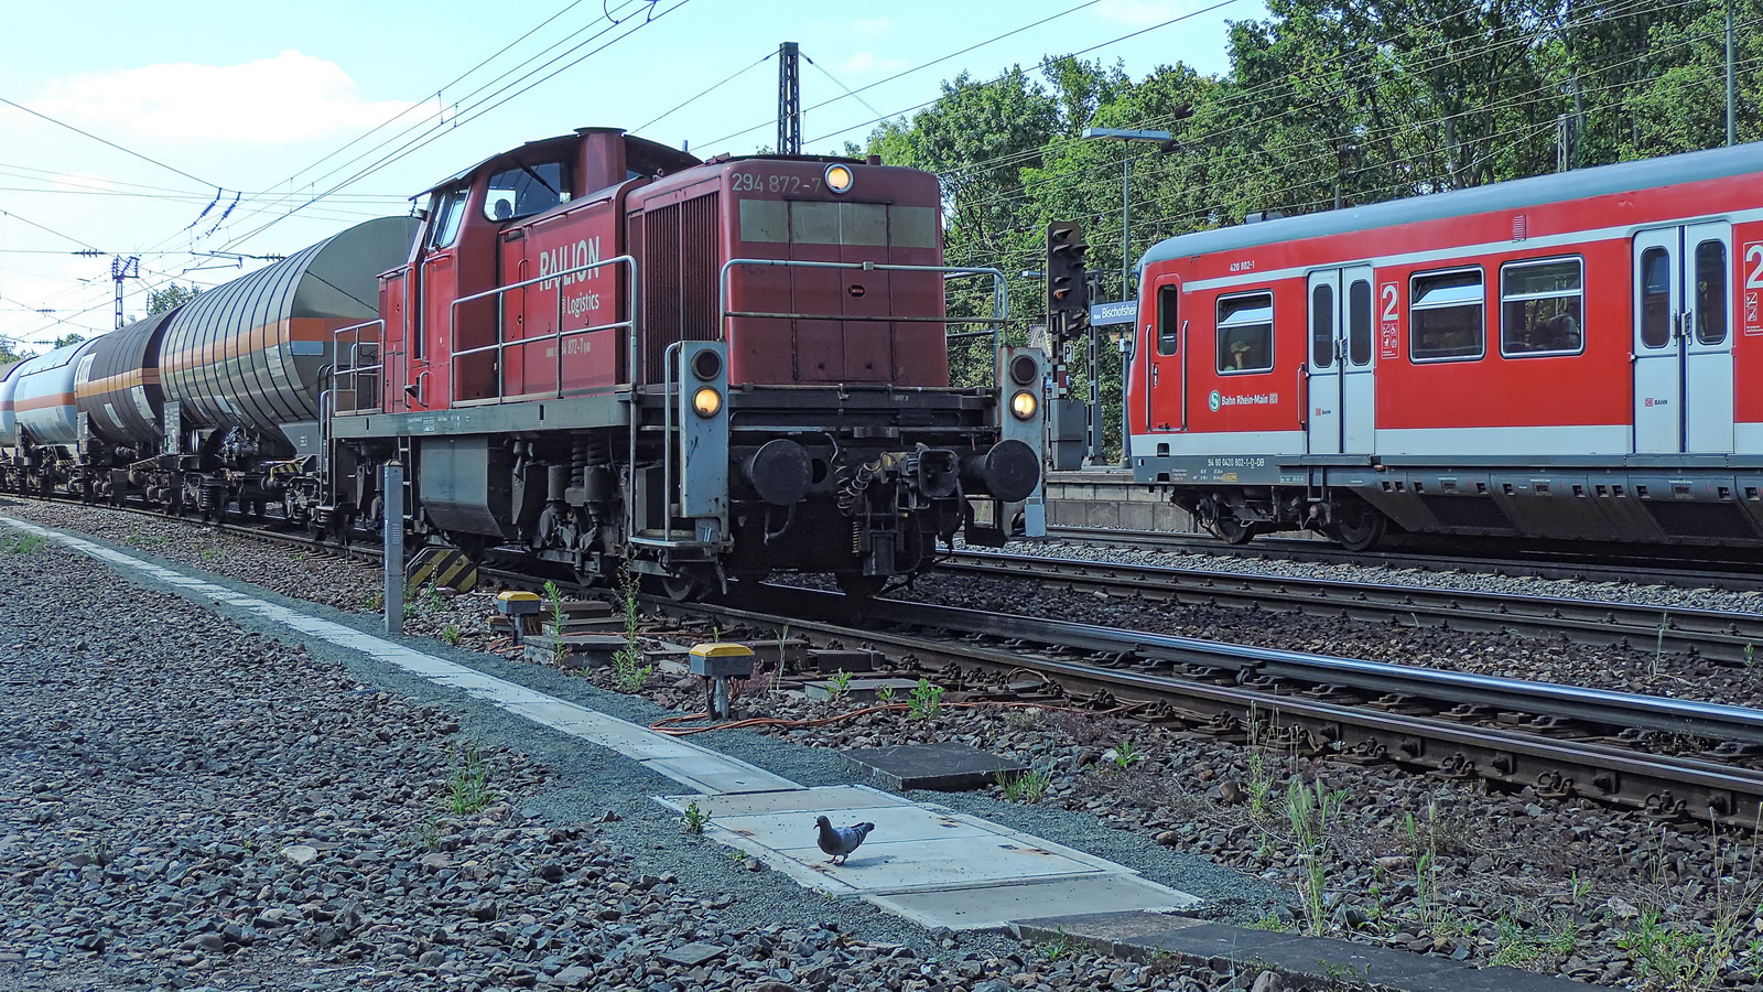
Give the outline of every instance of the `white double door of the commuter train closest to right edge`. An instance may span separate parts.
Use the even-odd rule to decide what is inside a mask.
[[[1733,450],[1731,226],[1634,235],[1634,450]]]

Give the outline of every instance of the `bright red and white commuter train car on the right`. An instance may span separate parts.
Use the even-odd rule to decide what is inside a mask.
[[[1315,530],[1763,547],[1763,147],[1169,238],[1135,480]]]

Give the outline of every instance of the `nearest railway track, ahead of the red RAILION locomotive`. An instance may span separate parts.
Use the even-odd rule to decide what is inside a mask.
[[[970,699],[1010,697],[1132,717],[1354,764],[1536,787],[1675,823],[1763,823],[1763,711],[1566,685],[1328,658],[1301,651],[767,588],[765,611],[661,611],[869,644],[991,673]],[[1047,688],[1056,685],[1056,690]],[[1645,750],[1673,747],[1675,754]]]

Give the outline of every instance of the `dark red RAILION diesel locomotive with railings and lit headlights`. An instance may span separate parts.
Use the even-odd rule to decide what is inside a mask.
[[[950,387],[945,281],[1001,274],[943,267],[934,175],[584,129],[428,201],[381,319],[338,334],[331,464],[296,512],[374,515],[398,457],[432,540],[681,593],[867,593],[1038,522],[1045,362],[996,348],[993,385]]]

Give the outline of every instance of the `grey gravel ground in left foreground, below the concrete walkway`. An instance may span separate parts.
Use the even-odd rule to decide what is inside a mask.
[[[279,643],[242,611],[129,584],[16,531],[0,530],[0,588],[12,607],[0,614],[9,992],[1275,985],[1253,969],[927,934],[804,898],[682,837],[647,800],[677,785],[635,763],[358,657]],[[608,695],[525,671],[539,688]],[[804,754],[797,773],[825,764]],[[721,953],[661,957],[691,941]]]

